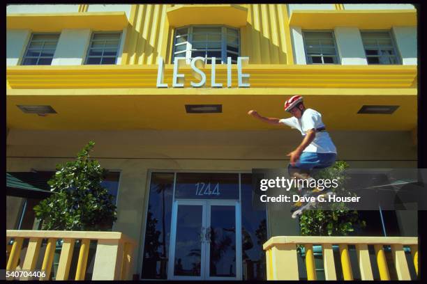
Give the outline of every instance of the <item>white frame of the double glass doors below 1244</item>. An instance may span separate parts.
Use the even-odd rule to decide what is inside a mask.
[[[211,221],[211,205],[225,205],[234,206],[234,219],[236,223],[236,277],[210,277],[210,243],[202,242],[200,249],[201,264],[200,276],[174,276],[174,262],[175,262],[175,244],[177,237],[177,213],[179,205],[202,205],[202,232],[206,234],[208,224]],[[208,200],[208,199],[176,199],[172,203],[172,220],[170,229],[170,242],[169,242],[169,261],[167,264],[167,279],[168,280],[202,280],[202,281],[235,281],[242,278],[242,255],[241,255],[241,206],[239,200]]]

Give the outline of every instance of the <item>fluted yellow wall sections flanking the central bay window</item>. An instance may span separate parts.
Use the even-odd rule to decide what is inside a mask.
[[[285,4],[248,4],[245,26],[241,26],[241,56],[250,56],[250,63],[292,64],[290,32]],[[167,19],[172,5],[133,5],[130,25],[123,50],[122,65],[157,64],[158,56],[171,63],[174,26]],[[193,17],[188,12],[184,17]],[[201,24],[194,22],[194,24]],[[262,50],[262,52],[261,52]],[[292,51],[290,52],[292,53]]]

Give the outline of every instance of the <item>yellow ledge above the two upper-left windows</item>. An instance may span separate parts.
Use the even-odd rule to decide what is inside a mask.
[[[127,25],[128,18],[124,12],[14,14],[6,17],[6,29],[31,29],[36,32],[62,29],[119,31]]]

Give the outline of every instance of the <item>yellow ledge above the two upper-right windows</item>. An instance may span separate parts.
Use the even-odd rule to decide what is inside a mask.
[[[391,29],[392,26],[417,26],[417,10],[293,10],[289,24],[301,29],[334,29],[336,26]]]

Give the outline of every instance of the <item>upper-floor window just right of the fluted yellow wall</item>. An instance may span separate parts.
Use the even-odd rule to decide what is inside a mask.
[[[307,64],[338,64],[334,33],[332,31],[304,31]]]

